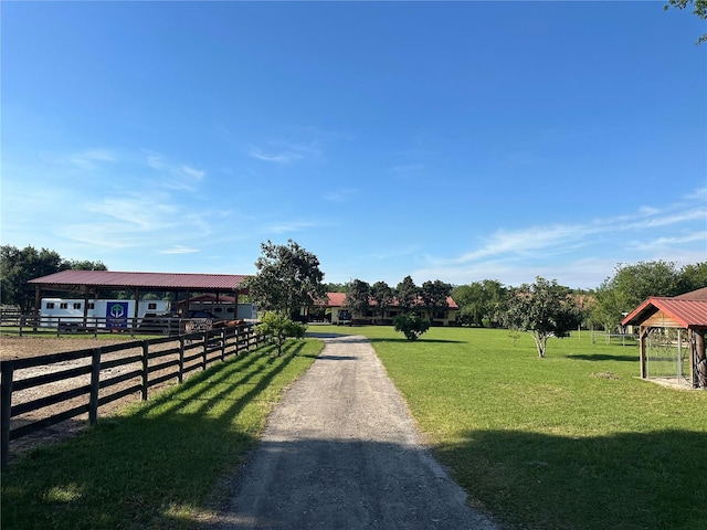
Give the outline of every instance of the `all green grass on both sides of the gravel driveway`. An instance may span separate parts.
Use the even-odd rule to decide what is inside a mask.
[[[705,528],[707,392],[641,381],[637,347],[587,332],[538,359],[506,330],[310,330],[371,339],[435,456],[506,528]],[[31,452],[2,473],[2,528],[197,527],[320,348],[251,352]]]

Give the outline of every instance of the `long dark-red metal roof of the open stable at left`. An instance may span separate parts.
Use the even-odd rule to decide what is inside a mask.
[[[62,271],[31,279],[29,283],[46,288],[89,287],[143,287],[156,289],[238,289],[247,276],[242,274],[187,274],[187,273],[119,273],[113,271]]]

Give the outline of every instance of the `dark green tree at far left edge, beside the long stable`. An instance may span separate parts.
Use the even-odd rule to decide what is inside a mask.
[[[23,315],[34,307],[34,286],[30,279],[71,268],[56,252],[33,246],[19,250],[12,245],[0,247],[0,300],[20,307]]]

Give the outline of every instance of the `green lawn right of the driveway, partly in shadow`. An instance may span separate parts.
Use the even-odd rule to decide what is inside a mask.
[[[707,392],[640,380],[637,346],[324,329],[371,339],[437,459],[511,528],[707,528]]]

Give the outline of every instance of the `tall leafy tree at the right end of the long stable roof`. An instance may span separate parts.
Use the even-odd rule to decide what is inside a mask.
[[[282,311],[286,317],[299,315],[326,296],[317,256],[292,240],[287,245],[261,243],[263,255],[255,262],[257,274],[246,280],[249,295],[264,310]]]

